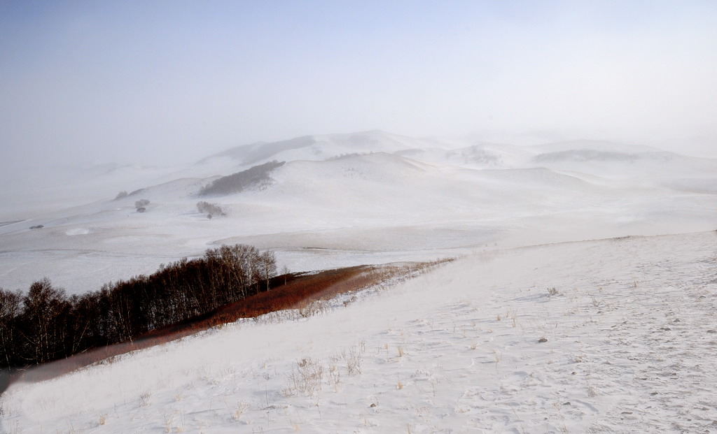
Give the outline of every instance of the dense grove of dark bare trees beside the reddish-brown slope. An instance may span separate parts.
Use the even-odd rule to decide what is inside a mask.
[[[34,282],[27,294],[0,289],[0,367],[26,367],[132,341],[267,291],[275,275],[271,251],[237,244],[82,295],[67,296],[48,279]]]

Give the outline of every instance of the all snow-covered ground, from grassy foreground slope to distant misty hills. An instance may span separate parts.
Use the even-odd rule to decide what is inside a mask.
[[[196,196],[270,160],[287,161],[271,183]],[[0,430],[717,432],[716,185],[717,160],[654,148],[381,131],[28,174],[0,191],[4,289],[47,276],[82,293],[221,243],[273,249],[292,271],[461,259],[319,317],[14,385]]]

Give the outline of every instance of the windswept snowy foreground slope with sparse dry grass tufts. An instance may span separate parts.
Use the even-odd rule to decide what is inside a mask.
[[[1,426],[717,432],[715,231],[488,251],[357,298],[14,385]]]

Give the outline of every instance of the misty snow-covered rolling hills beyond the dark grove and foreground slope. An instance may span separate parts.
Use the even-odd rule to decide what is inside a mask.
[[[272,161],[284,164],[260,166],[236,193],[199,194]],[[594,140],[521,147],[374,130],[255,143],[194,165],[105,165],[4,191],[0,286],[47,276],[98,289],[229,241],[275,249],[299,271],[701,231],[717,226],[715,185],[716,160]],[[227,216],[210,220],[199,201]]]

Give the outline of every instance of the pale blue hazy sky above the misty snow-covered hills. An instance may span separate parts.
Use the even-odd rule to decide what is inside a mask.
[[[716,77],[715,1],[0,0],[0,168],[371,129],[717,156]]]

